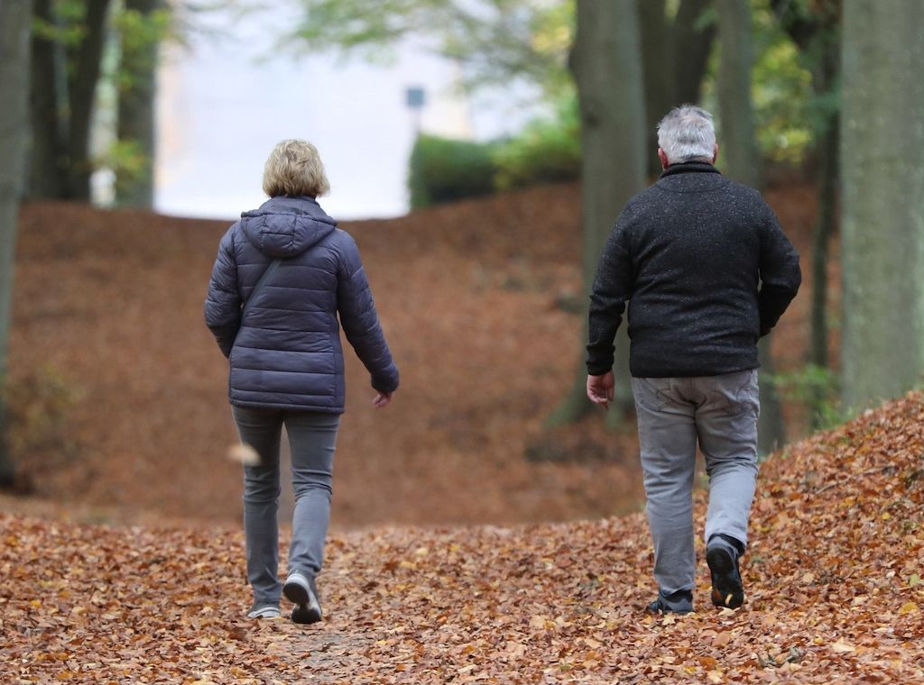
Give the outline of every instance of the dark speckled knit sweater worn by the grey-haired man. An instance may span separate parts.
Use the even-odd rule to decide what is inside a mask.
[[[626,304],[633,376],[759,367],[758,339],[801,280],[796,250],[760,193],[711,164],[672,164],[629,200],[603,249],[590,295],[588,372],[613,367]]]

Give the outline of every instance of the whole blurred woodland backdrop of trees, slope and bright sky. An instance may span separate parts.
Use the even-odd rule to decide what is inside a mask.
[[[262,164],[308,138],[402,369],[347,367],[334,525],[637,509],[617,403],[584,397],[602,243],[676,104],[716,119],[803,289],[761,341],[760,449],[924,373],[919,0],[9,0],[0,22],[0,504],[240,515],[201,320]],[[625,331],[622,333],[625,336]],[[783,451],[784,453],[784,451]]]

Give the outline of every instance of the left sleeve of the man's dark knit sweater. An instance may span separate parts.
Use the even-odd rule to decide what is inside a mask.
[[[628,246],[631,210],[626,207],[603,247],[590,294],[587,371],[600,376],[613,368],[616,330],[632,294],[632,260]]]

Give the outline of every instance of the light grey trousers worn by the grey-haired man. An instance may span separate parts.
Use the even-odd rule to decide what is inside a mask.
[[[632,379],[654,578],[665,594],[692,590],[693,478],[696,447],[706,460],[706,541],[731,535],[748,543],[757,480],[757,369],[722,376]]]

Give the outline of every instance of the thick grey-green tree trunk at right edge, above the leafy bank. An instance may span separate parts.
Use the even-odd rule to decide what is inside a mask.
[[[843,401],[924,374],[924,3],[845,0],[841,174]]]

